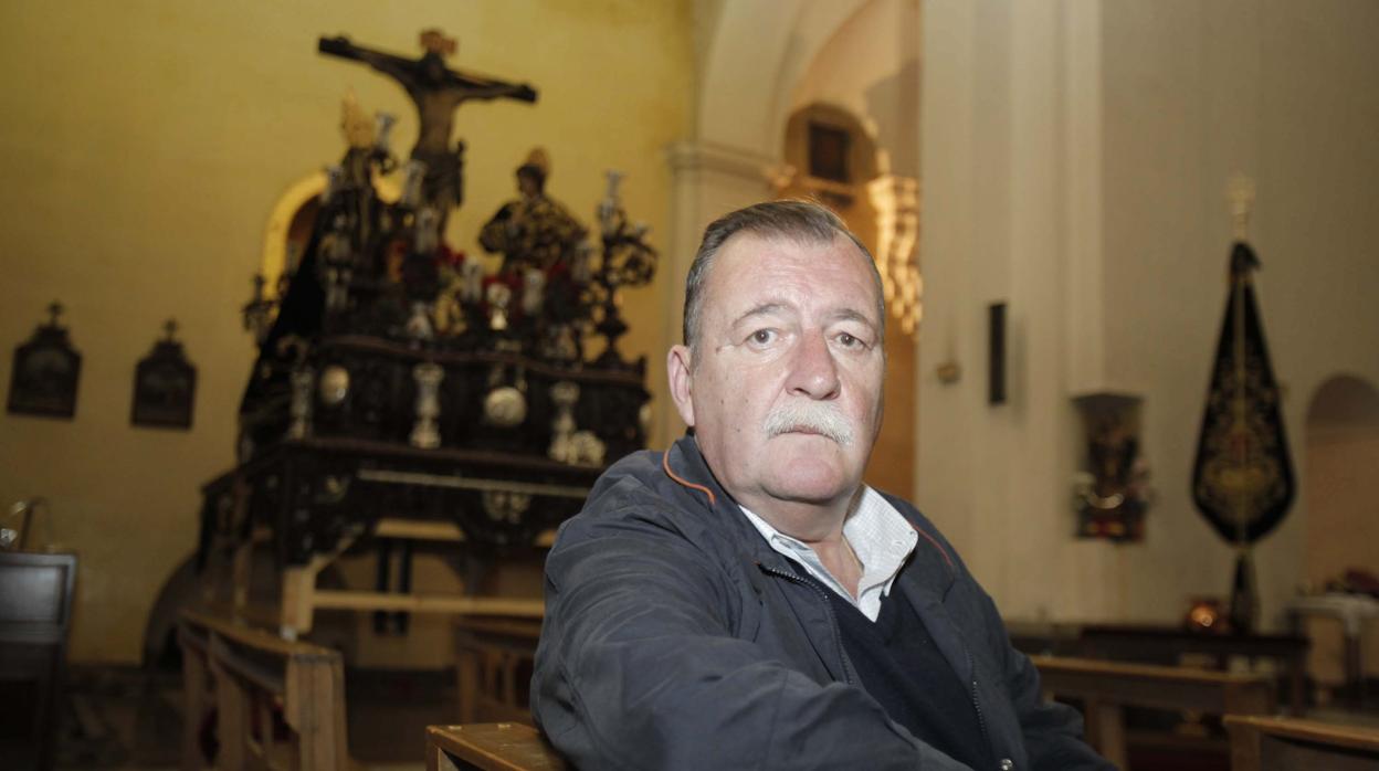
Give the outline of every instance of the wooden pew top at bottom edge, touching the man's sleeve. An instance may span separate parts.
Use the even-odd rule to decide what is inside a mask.
[[[564,771],[565,761],[531,725],[426,727],[426,771]]]

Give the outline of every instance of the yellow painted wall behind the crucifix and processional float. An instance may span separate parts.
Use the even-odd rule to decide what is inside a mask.
[[[663,244],[662,149],[685,135],[694,87],[688,0],[0,6],[0,383],[52,299],[84,354],[73,421],[0,415],[0,501],[47,497],[54,541],[81,556],[72,659],[137,661],[154,593],[194,546],[197,488],[232,462],[252,357],[239,306],[263,226],[290,185],[341,154],[345,90],[396,113],[394,149],[411,148],[403,91],[317,55],[317,36],[415,55],[426,26],[459,37],[452,66],[541,91],[535,106],[461,109],[467,203],[452,246],[477,250],[534,145],[553,161],[547,190],[586,221],[603,170],[627,172],[630,215]],[[656,319],[665,286],[630,292],[627,316]],[[194,426],[132,428],[134,364],[170,316],[200,370]],[[623,350],[651,354],[659,399],[662,324],[633,326]]]

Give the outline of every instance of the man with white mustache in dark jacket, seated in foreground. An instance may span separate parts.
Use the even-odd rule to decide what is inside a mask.
[[[862,484],[881,281],[827,210],[709,226],[670,394],[688,436],[598,480],[546,561],[532,713],[587,768],[1109,768],[990,597]]]

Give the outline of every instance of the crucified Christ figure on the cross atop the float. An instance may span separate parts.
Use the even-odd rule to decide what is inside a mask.
[[[419,59],[354,46],[343,36],[321,37],[317,47],[323,54],[367,63],[401,84],[412,98],[421,127],[411,157],[426,164],[422,197],[441,218],[444,232],[450,210],[465,200],[465,143],[455,142],[454,148],[450,143],[455,110],[469,99],[535,102],[536,91],[525,83],[505,83],[447,68],[444,57],[455,52],[455,39],[437,29],[422,32],[421,44],[426,52]]]

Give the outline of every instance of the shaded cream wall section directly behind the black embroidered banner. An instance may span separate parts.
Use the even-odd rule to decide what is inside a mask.
[[[1106,7],[1117,52],[1105,88],[1107,363],[1147,396],[1160,492],[1151,538],[1127,565],[1136,615],[1169,618],[1189,594],[1230,586],[1231,552],[1189,490],[1225,313],[1234,172],[1258,185],[1255,286],[1299,480],[1289,517],[1256,549],[1265,622],[1306,578],[1309,400],[1338,372],[1379,374],[1376,28],[1379,8],[1365,3]]]

